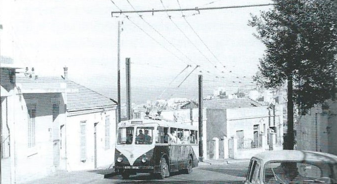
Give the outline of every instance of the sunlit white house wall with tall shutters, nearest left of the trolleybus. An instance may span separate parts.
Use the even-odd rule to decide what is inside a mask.
[[[110,115],[110,148],[105,148],[105,117]],[[80,121],[86,120],[86,161],[80,161]],[[68,114],[67,134],[67,170],[94,168],[94,123],[97,136],[97,167],[109,167],[114,161],[116,110],[91,112],[87,114]]]

